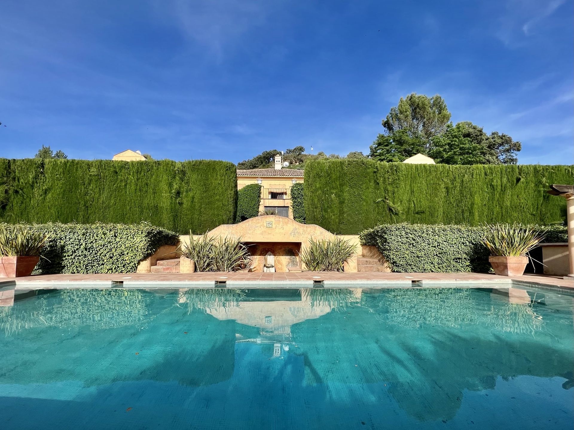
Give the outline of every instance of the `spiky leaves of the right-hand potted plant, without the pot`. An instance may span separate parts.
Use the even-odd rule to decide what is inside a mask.
[[[488,226],[483,239],[493,257],[518,257],[526,255],[544,239],[546,230],[518,224],[493,224]]]

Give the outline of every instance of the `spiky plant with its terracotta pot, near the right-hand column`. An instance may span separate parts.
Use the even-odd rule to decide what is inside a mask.
[[[489,226],[483,239],[490,251],[488,261],[494,273],[501,276],[522,276],[528,264],[528,252],[544,239],[545,230],[533,227],[495,224]]]

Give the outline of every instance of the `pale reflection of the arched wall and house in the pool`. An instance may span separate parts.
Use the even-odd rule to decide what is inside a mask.
[[[181,289],[179,303],[191,297],[190,290]],[[236,335],[236,342],[273,344],[272,357],[281,357],[293,344],[291,326],[316,319],[333,309],[358,303],[361,289],[250,289],[241,290],[236,302],[214,301],[203,310],[218,320],[234,320],[239,324],[257,327],[256,338]]]

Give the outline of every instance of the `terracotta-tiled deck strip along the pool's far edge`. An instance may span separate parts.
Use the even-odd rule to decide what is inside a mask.
[[[393,284],[410,284],[420,282],[422,285],[444,284],[511,284],[511,281],[528,282],[537,285],[558,286],[574,289],[574,278],[564,279],[557,276],[524,275],[518,277],[503,277],[487,273],[336,273],[336,272],[301,272],[301,273],[106,273],[106,274],[55,274],[36,275],[21,278],[0,278],[0,286],[5,282],[12,284],[16,281],[19,286],[30,288],[40,284],[59,285],[67,282],[85,282],[103,285],[122,282],[125,286],[143,286],[142,284],[161,284],[162,286],[177,286],[180,283],[192,282],[197,286],[213,286],[215,282],[225,281],[227,286],[257,288],[268,282],[285,282],[285,285],[308,285],[316,281],[324,281],[325,286],[343,286],[348,284],[365,284],[371,282],[389,282]],[[2,285],[3,284],[3,285]],[[181,284],[180,284],[181,285]],[[81,285],[80,285],[81,286]],[[280,285],[274,285],[280,286]]]

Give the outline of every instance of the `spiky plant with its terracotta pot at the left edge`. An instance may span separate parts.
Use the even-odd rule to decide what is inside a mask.
[[[30,276],[48,235],[25,226],[0,226],[0,278]]]

